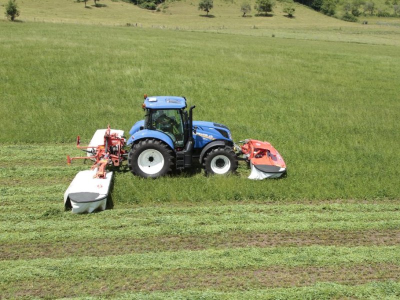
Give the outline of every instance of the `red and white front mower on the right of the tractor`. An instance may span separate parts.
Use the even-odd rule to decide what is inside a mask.
[[[249,179],[278,178],[286,173],[286,164],[279,152],[266,141],[247,139],[241,152],[250,163]]]

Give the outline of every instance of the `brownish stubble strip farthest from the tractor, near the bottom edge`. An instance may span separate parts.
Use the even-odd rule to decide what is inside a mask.
[[[398,265],[380,263],[324,267],[272,266],[229,270],[192,269],[189,273],[179,269],[147,270],[146,272],[103,269],[87,276],[82,280],[83,282],[66,277],[12,282],[7,286],[6,292],[9,295],[40,297],[49,297],[50,295],[64,297],[79,294],[106,294],[106,297],[109,297],[128,291],[176,290],[179,292],[185,289],[214,289],[233,292],[238,289],[307,286],[315,284],[319,280],[352,285],[365,284],[378,280],[396,280],[398,271],[400,271]]]

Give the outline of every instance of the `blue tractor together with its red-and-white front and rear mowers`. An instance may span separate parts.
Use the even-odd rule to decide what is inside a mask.
[[[122,130],[109,126],[98,129],[88,146],[80,146],[77,138],[77,147],[87,156],[68,156],[68,163],[82,158],[94,163],[89,171],[79,172],[65,191],[64,203],[72,212],[105,208],[105,202],[94,203],[108,194],[112,172],[106,166],[120,166],[125,159],[133,174],[145,178],[190,168],[196,161],[207,174],[233,172],[238,160],[249,163],[250,179],[277,178],[286,172],[282,156],[270,143],[255,139],[234,143],[225,125],[193,120],[195,106],[186,110],[184,97],[144,95],[141,107],[144,119],[133,124],[127,140]]]

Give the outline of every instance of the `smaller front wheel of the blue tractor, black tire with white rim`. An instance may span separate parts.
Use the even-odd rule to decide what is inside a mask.
[[[205,154],[203,168],[207,174],[231,173],[237,169],[237,156],[230,147],[212,148]]]

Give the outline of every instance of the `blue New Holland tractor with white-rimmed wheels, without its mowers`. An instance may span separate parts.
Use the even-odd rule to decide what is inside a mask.
[[[172,168],[183,170],[194,160],[208,174],[226,174],[237,168],[238,155],[228,127],[194,121],[194,105],[186,110],[186,99],[144,95],[144,119],[129,130],[126,145],[130,171],[156,178]]]

